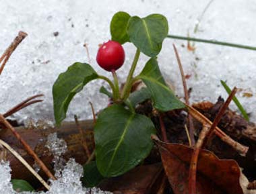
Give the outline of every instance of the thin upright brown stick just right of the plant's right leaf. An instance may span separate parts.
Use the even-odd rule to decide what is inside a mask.
[[[180,69],[180,72],[181,72],[181,79],[182,79],[182,82],[183,82],[185,102],[189,105],[189,93],[188,93],[188,90],[187,90],[187,84],[186,84],[186,79],[185,79],[185,75],[184,75],[183,66],[181,64],[181,58],[179,57],[179,53],[177,51],[176,46],[174,44],[172,44],[172,46],[174,48],[174,52],[175,52],[177,62],[179,64],[179,69]],[[195,128],[194,128],[194,124],[193,124],[193,119],[192,119],[190,114],[188,114],[188,119],[189,119],[189,136],[190,136],[190,139],[191,139],[191,145],[194,146],[195,145],[195,137],[194,137]]]

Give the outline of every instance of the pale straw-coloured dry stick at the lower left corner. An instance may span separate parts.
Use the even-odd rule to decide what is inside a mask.
[[[38,179],[38,181],[40,181],[40,183],[42,183],[42,185],[44,185],[44,187],[47,190],[50,189],[50,186],[44,181],[44,179],[42,179],[42,177],[40,177],[40,175],[38,175],[38,173],[36,173],[36,171],[34,171],[34,169],[30,166],[30,164],[28,164],[28,162],[26,162],[26,160],[24,160],[24,158],[22,158],[22,156],[20,156],[20,154],[18,154],[18,152],[13,150],[13,148],[11,148],[11,146],[9,146],[3,140],[0,140],[0,144],[2,146],[4,146],[5,148],[7,148],[7,150],[9,150],[9,152],[11,152],[11,154],[13,154],[13,156],[15,156],[18,160],[20,160],[20,162],[22,162],[22,164],[24,164],[24,166],[26,166],[26,168],[28,168],[28,171],[30,171],[30,173],[32,173],[36,177],[36,179]]]

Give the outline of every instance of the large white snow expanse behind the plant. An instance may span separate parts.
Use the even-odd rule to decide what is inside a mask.
[[[169,21],[170,34],[187,36],[189,33],[198,38],[255,45],[256,1],[215,0],[200,19],[207,3],[204,0],[0,0],[0,53],[3,53],[18,31],[28,33],[1,75],[2,112],[30,95],[43,93],[43,103],[16,113],[15,118],[21,121],[31,117],[53,120],[52,85],[59,73],[73,62],[89,61],[83,46],[85,43],[90,52],[90,64],[100,74],[110,77],[110,73],[98,67],[95,56],[98,44],[110,39],[110,19],[120,10],[141,17],[162,13]],[[193,34],[199,19],[199,30]],[[241,91],[238,97],[251,113],[251,120],[256,121],[256,113],[253,111],[256,103],[255,51],[195,43],[196,50],[193,53],[181,46],[187,44],[185,41],[165,40],[158,58],[160,68],[180,96],[183,96],[183,89],[172,43],[179,49],[185,73],[191,75],[187,84],[193,88],[192,102],[216,101],[219,95],[227,97],[220,85],[220,79],[223,79],[230,87],[237,86],[253,94],[253,97],[243,97],[244,91]],[[125,66],[117,72],[121,81],[125,81],[135,48],[125,44],[125,51]],[[141,56],[136,73],[146,60],[148,57]],[[94,81],[75,96],[67,112],[67,119],[72,120],[74,114],[79,115],[80,119],[92,118],[89,101],[92,101],[96,111],[107,105],[106,97],[98,93],[100,85],[102,81]],[[232,107],[236,109],[234,104]]]

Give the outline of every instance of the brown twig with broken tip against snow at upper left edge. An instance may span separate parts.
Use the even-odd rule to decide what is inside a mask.
[[[13,40],[13,42],[11,42],[9,47],[5,50],[5,52],[3,53],[3,55],[0,58],[0,64],[3,61],[3,64],[1,64],[1,66],[0,66],[0,75],[3,71],[3,68],[5,67],[7,60],[9,59],[9,57],[11,56],[13,51],[17,48],[17,46],[22,42],[22,40],[24,40],[24,38],[26,38],[26,36],[28,36],[28,34],[26,34],[26,32],[20,31],[18,36],[16,36],[16,38]]]

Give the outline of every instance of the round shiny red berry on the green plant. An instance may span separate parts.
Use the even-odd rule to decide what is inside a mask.
[[[98,49],[96,60],[104,70],[117,70],[125,62],[125,50],[119,42],[108,40]]]

